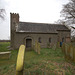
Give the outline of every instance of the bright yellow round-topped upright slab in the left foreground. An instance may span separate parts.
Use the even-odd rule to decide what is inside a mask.
[[[17,56],[16,75],[23,75],[24,53],[25,53],[25,46],[21,45]]]

